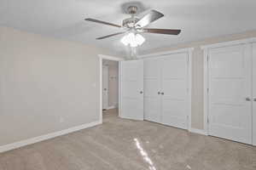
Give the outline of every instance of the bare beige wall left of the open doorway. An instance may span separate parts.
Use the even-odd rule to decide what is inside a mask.
[[[98,121],[97,54],[0,27],[0,145]]]

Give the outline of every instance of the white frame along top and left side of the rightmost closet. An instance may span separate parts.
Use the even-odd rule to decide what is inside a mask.
[[[253,38],[246,38],[241,40],[235,40],[235,41],[229,41],[229,42],[218,42],[218,43],[212,43],[210,45],[201,46],[201,50],[203,50],[203,65],[204,65],[204,94],[203,94],[203,114],[204,114],[204,133],[206,135],[209,135],[209,124],[208,124],[208,114],[209,114],[209,103],[208,103],[208,89],[209,89],[209,68],[208,68],[208,55],[209,51],[212,48],[224,48],[224,47],[230,47],[230,46],[236,46],[236,45],[250,45],[253,42],[256,42],[256,37]],[[253,123],[252,123],[253,125]],[[252,127],[253,129],[253,127]]]

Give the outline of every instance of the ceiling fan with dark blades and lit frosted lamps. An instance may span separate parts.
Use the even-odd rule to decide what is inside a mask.
[[[144,14],[143,17],[138,18],[136,16],[137,9],[138,9],[137,6],[129,6],[127,8],[128,14],[131,14],[131,18],[123,20],[122,26],[105,22],[102,20],[91,19],[91,18],[86,18],[84,20],[121,28],[123,31],[119,31],[104,37],[97,37],[96,39],[101,40],[104,38],[117,36],[119,34],[128,33],[126,37],[124,37],[121,41],[125,43],[125,45],[128,45],[128,44],[131,45],[131,47],[137,47],[137,45],[141,45],[144,42],[144,38],[140,34],[138,34],[140,32],[167,34],[167,35],[178,35],[181,32],[181,30],[146,28],[146,26],[154,22],[154,20],[159,20],[161,17],[163,17],[164,14],[161,14],[156,10],[150,10],[147,14]],[[132,43],[131,39],[134,39],[134,42],[137,41],[138,43]]]

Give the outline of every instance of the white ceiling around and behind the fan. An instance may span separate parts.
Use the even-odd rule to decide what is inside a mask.
[[[113,54],[127,54],[119,42],[121,36],[105,40],[96,37],[119,31],[119,28],[84,21],[90,17],[116,24],[128,18],[121,4],[125,0],[1,0],[0,26],[79,41],[108,48]],[[256,30],[255,0],[142,0],[148,8],[165,14],[148,27],[180,28],[179,36],[143,34],[146,42],[138,53],[152,48]]]

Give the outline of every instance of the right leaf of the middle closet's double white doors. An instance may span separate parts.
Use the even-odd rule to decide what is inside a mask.
[[[188,54],[160,59],[162,123],[188,129]]]

